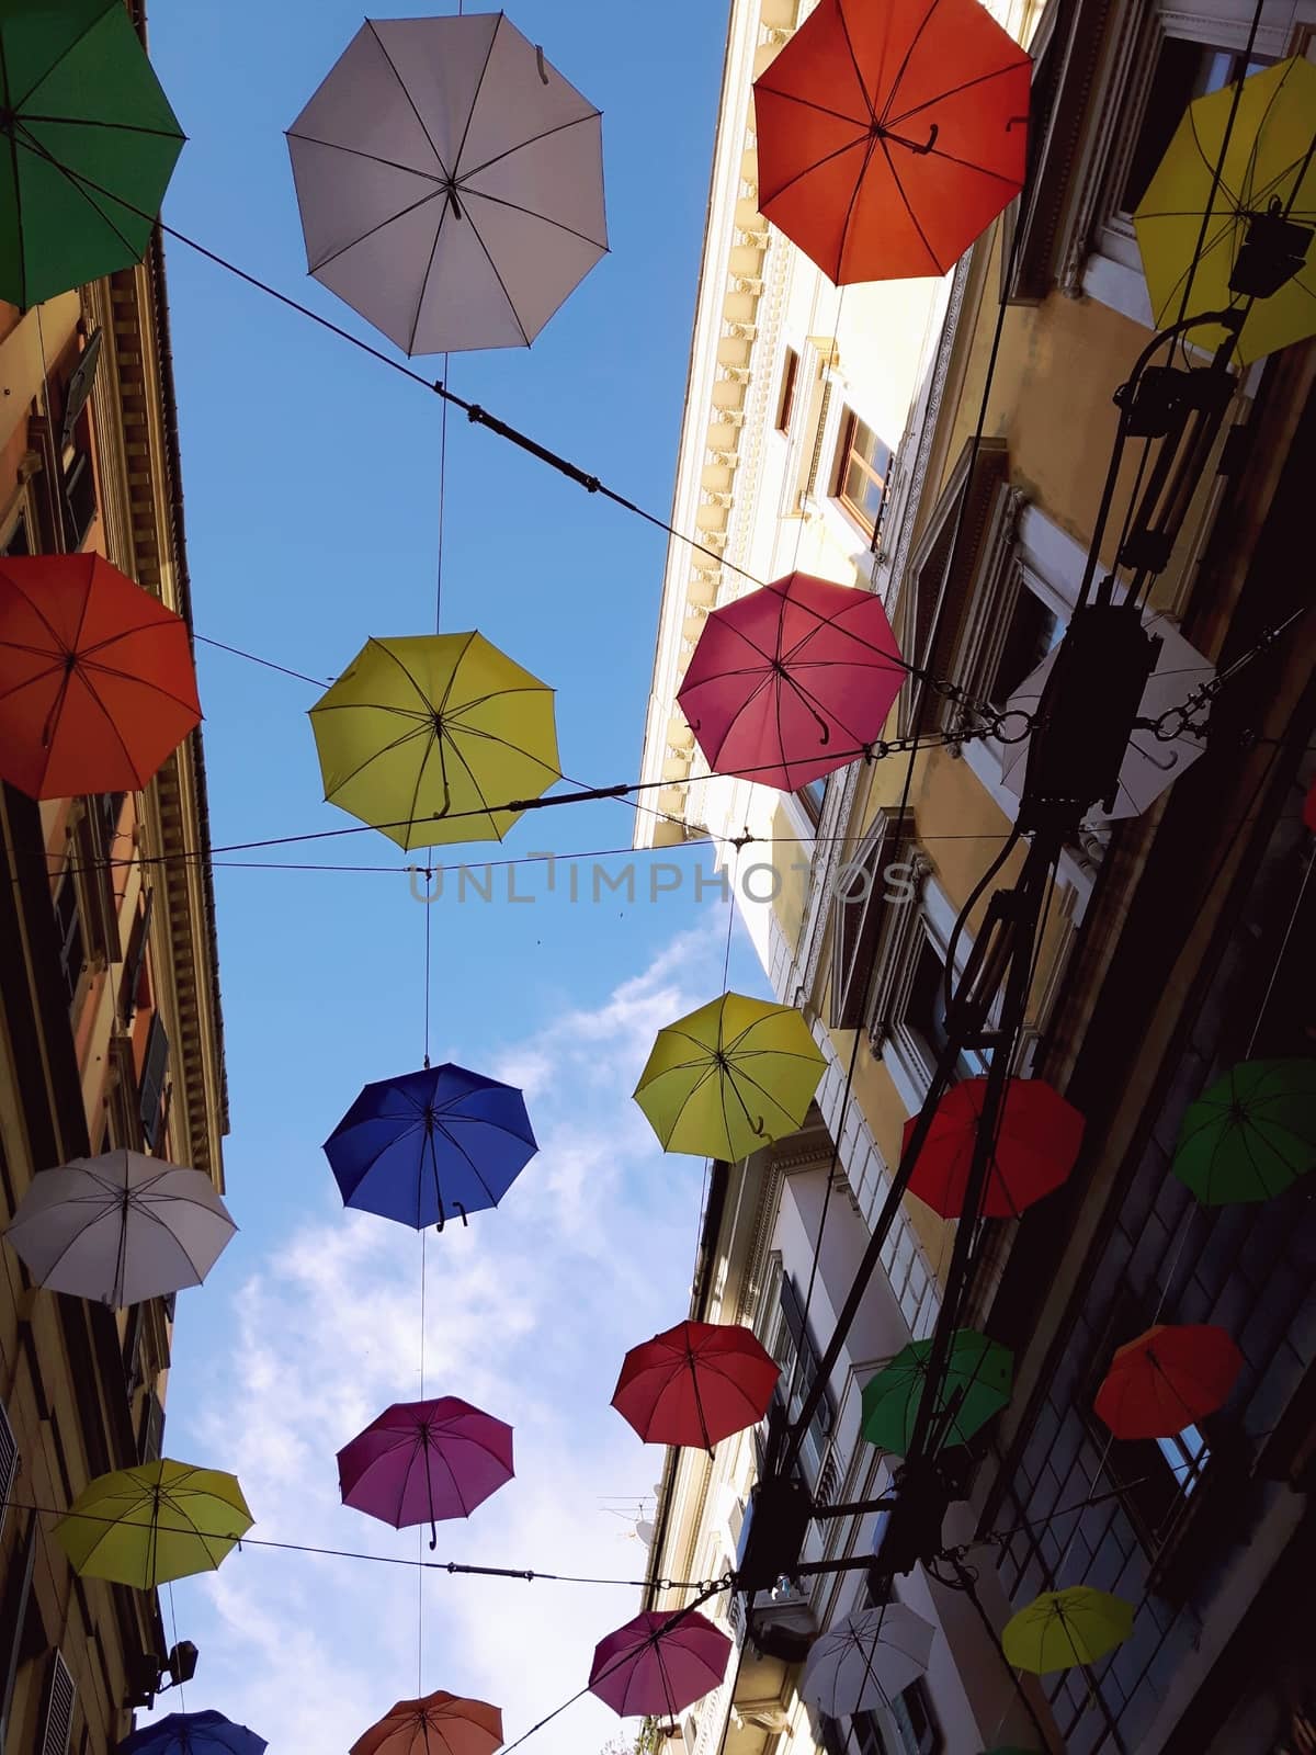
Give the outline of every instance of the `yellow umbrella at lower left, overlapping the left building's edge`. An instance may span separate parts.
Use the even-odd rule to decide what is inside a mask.
[[[161,1458],[98,1474],[54,1534],[82,1578],[154,1590],[212,1572],[251,1522],[235,1476]]]

